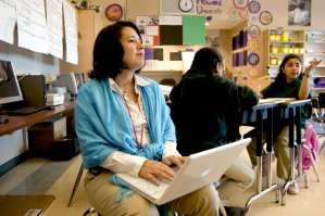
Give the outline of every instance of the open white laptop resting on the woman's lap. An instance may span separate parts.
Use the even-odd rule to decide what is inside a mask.
[[[125,173],[116,175],[143,198],[162,205],[218,180],[250,141],[250,138],[246,138],[191,154],[177,170],[174,180],[161,179],[160,186]]]

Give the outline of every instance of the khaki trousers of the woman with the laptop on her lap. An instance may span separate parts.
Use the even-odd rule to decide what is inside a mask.
[[[109,181],[113,173],[105,170],[98,176],[87,173],[85,188],[90,204],[103,216],[138,215],[159,216],[157,206],[138,193],[115,202],[121,187]],[[186,187],[186,186],[184,186]],[[170,209],[183,215],[218,216],[220,199],[213,186],[205,187],[192,193],[170,202]]]

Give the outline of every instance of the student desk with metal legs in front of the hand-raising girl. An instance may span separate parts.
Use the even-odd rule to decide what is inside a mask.
[[[295,176],[295,125],[297,129],[297,137],[301,137],[301,127],[300,127],[300,114],[301,114],[301,106],[305,103],[309,103],[311,100],[292,100],[292,99],[284,99],[283,101],[274,101],[271,103],[265,104],[258,104],[252,109],[243,112],[243,120],[242,124],[250,124],[253,123],[257,128],[257,156],[258,156],[258,165],[257,165],[257,193],[250,196],[245,206],[245,214],[248,213],[249,207],[251,204],[260,199],[261,196],[265,195],[266,193],[277,189],[275,201],[279,202],[279,186],[272,185],[272,144],[273,144],[273,113],[276,109],[282,109],[282,118],[287,118],[289,120],[289,148],[290,148],[290,163],[291,163],[291,171],[290,171],[290,179],[282,189],[282,204],[285,204],[286,201],[286,193],[290,185],[297,181],[299,178],[304,177],[305,183],[307,174],[302,171],[302,164],[301,164],[301,139],[297,139],[298,144],[298,152],[299,152],[299,168],[298,175]],[[271,119],[267,123],[267,137],[266,137],[266,154],[267,154],[267,162],[268,162],[268,173],[267,173],[267,186],[264,190],[262,190],[262,153],[263,153],[263,127],[264,127],[264,119]],[[308,183],[307,183],[308,185]]]

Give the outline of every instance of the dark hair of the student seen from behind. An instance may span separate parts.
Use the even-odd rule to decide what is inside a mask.
[[[218,51],[212,48],[202,48],[197,51],[191,69],[200,69],[202,73],[212,74],[217,63],[222,63],[222,56]]]

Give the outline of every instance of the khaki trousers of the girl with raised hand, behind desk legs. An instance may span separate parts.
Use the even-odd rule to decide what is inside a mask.
[[[304,137],[305,130],[301,128],[301,137]],[[295,138],[296,140],[296,126]],[[273,143],[274,154],[277,158],[276,171],[277,177],[280,179],[288,179],[290,175],[290,148],[289,148],[289,126],[285,126]],[[252,162],[252,165],[257,165],[257,138],[252,137],[251,143],[247,147],[248,154]]]

